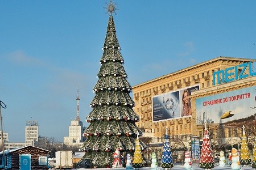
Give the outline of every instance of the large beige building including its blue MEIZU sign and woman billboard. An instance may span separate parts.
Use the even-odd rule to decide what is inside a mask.
[[[248,58],[217,57],[133,86],[134,110],[140,118],[137,126],[146,133],[154,134],[153,142],[156,143],[163,142],[165,128],[168,128],[172,147],[189,147],[192,136],[202,139],[202,124],[205,121],[209,129],[222,125],[221,122],[215,124],[217,121],[211,116],[213,113],[200,109],[196,105],[197,100],[213,94],[255,87],[255,61]],[[240,116],[243,117],[243,114]],[[225,127],[221,128],[225,134]],[[213,130],[212,135],[218,133]],[[241,134],[241,128],[237,134]]]

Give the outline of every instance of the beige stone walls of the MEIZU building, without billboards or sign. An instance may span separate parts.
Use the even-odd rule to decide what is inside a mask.
[[[249,70],[248,67],[245,68],[245,70],[242,70],[242,67],[236,67],[242,63],[253,63],[255,61],[255,59],[249,58],[217,57],[133,86],[133,99],[135,102],[134,111],[140,118],[136,123],[137,126],[144,129],[145,133],[152,133],[154,135],[153,142],[155,143],[163,142],[164,132],[167,128],[168,134],[173,142],[171,144],[172,147],[189,147],[192,135],[197,135],[200,139],[203,135],[202,128],[204,126],[200,125],[199,122],[205,120],[203,120],[203,116],[196,116],[196,99],[240,88],[255,86],[256,76],[249,75],[251,70]],[[230,82],[223,81],[222,76],[217,78],[216,72],[230,67],[236,67],[238,73],[244,71],[244,73],[249,76],[247,78],[237,79],[236,75],[230,74],[229,78],[234,78],[234,80]],[[189,95],[191,99],[191,116],[178,116],[163,119],[153,117],[154,106],[152,103],[155,96],[159,96],[159,99],[161,99],[161,95],[170,92],[177,92],[189,87],[199,88],[197,91],[193,91]],[[163,102],[166,102],[165,107],[167,110],[174,109],[175,102],[171,98],[162,98]],[[180,101],[180,103],[181,102],[182,101]],[[179,109],[181,112],[182,108]],[[175,111],[172,113],[174,114]],[[214,129],[216,128],[216,125],[210,124],[208,125],[208,128]],[[241,129],[238,129],[238,131],[241,134]],[[213,130],[213,133],[217,135],[218,131]]]

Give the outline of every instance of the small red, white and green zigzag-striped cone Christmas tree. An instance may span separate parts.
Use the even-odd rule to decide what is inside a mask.
[[[204,138],[201,149],[200,168],[210,169],[214,167],[212,147],[210,146],[210,139],[207,131],[207,123],[205,122]]]

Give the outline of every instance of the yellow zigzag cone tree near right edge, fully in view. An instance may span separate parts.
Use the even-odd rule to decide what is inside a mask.
[[[251,164],[249,147],[247,145],[246,136],[245,136],[245,126],[243,126],[243,138],[241,144],[241,157],[240,157],[241,164]]]

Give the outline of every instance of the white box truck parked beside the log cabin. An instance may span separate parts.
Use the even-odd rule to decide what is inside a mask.
[[[72,151],[55,152],[55,169],[71,169],[73,168]]]

